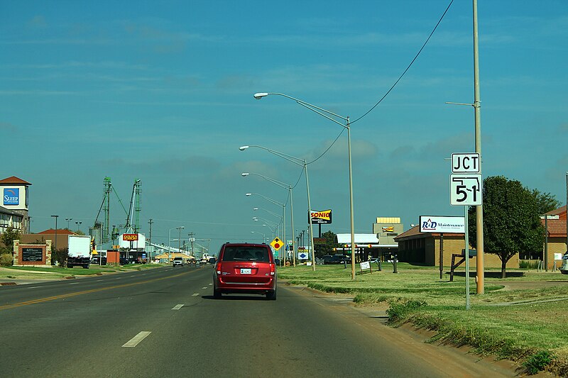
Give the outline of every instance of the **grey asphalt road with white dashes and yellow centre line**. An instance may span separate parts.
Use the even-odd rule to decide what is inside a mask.
[[[513,377],[341,297],[212,296],[212,267],[0,287],[0,377]],[[500,375],[503,373],[503,375]]]

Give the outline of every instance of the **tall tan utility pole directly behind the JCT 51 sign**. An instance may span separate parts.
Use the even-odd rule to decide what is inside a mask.
[[[477,32],[477,0],[474,0],[474,109],[475,109],[475,152],[479,153],[479,173],[481,171],[481,95],[479,94],[479,43]],[[477,245],[477,294],[484,294],[484,206],[476,206],[476,245]],[[467,225],[466,225],[467,226]],[[467,241],[467,240],[466,240]]]

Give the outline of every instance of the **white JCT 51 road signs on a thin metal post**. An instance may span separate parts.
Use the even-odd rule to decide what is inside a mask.
[[[449,177],[449,204],[464,206],[464,239],[466,251],[466,310],[469,310],[469,219],[468,207],[483,204],[483,179],[478,152],[453,153],[452,174]]]

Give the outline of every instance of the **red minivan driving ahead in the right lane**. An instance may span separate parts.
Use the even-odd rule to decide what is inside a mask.
[[[276,299],[276,264],[266,244],[225,243],[213,273],[213,296],[263,294]]]

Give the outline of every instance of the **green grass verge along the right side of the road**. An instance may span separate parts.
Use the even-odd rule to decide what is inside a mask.
[[[529,373],[546,370],[568,377],[568,275],[510,269],[515,277],[486,271],[484,294],[476,294],[470,279],[470,309],[466,310],[464,270],[454,281],[439,278],[437,267],[391,264],[358,274],[343,265],[280,267],[278,277],[320,291],[350,294],[357,306],[386,308],[388,323],[413,324],[434,331],[431,343],[471,345],[481,355],[517,362]],[[474,270],[471,271],[472,274]],[[494,274],[493,274],[494,273]]]

